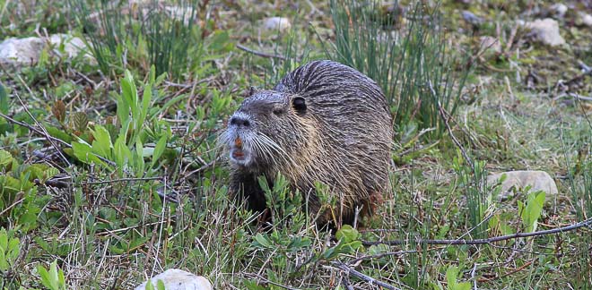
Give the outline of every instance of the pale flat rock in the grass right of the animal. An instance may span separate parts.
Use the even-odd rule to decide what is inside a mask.
[[[547,195],[555,195],[559,192],[551,175],[544,171],[518,170],[492,174],[487,176],[487,184],[498,183],[501,175],[506,175],[506,180],[501,183],[502,195],[508,195],[512,189],[520,191],[528,185],[530,185],[530,192],[543,191]]]

